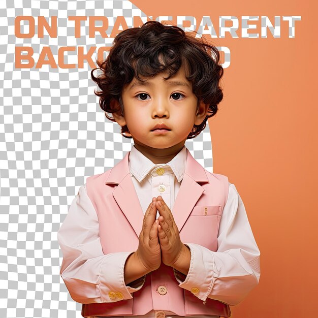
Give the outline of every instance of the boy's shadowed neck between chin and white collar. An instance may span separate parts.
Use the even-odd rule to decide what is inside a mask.
[[[170,162],[183,148],[184,141],[170,148],[157,149],[145,145],[134,144],[135,148],[146,156],[152,163],[167,164]]]

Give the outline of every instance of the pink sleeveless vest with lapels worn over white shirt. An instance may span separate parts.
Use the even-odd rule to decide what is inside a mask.
[[[144,213],[131,179],[129,153],[112,169],[86,180],[88,197],[98,214],[104,254],[138,248]],[[217,250],[219,221],[228,190],[228,178],[206,171],[187,149],[185,173],[172,209],[183,243],[196,243]],[[146,275],[143,287],[133,293],[132,299],[83,304],[82,315],[136,316],[151,310],[170,311],[179,316],[231,315],[228,305],[210,298],[204,304],[178,284],[173,268],[162,263],[160,268]],[[157,291],[161,285],[167,288],[165,295]]]

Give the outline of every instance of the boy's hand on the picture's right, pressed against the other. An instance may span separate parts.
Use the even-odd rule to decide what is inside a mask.
[[[164,264],[172,266],[179,262],[179,257],[188,253],[188,248],[181,242],[179,230],[173,215],[161,196],[157,197],[156,208],[159,211],[158,237],[161,247],[161,256]],[[180,261],[180,260],[179,260]]]

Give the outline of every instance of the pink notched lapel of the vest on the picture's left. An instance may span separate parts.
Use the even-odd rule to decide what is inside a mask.
[[[124,213],[137,237],[142,229],[144,213],[136,193],[134,183],[129,171],[128,158],[126,153],[124,158],[116,164],[105,180],[105,184],[117,184],[113,191],[113,197],[121,211]]]

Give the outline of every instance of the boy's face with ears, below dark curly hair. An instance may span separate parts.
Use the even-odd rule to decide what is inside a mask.
[[[164,77],[167,73],[159,73],[146,83],[134,78],[122,91],[124,116],[116,113],[114,118],[121,126],[128,126],[137,149],[173,147],[179,151],[194,124],[206,117],[208,105],[201,103],[197,110],[197,97],[183,68],[169,80]],[[157,124],[169,130],[154,130]]]

